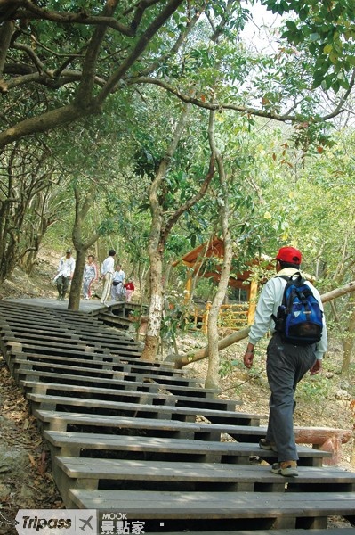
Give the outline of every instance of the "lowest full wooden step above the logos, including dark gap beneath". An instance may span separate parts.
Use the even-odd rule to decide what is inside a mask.
[[[78,508],[105,508],[127,513],[129,519],[164,522],[165,531],[194,528],[191,521],[223,530],[326,528],[328,516],[354,518],[355,493],[333,492],[174,492],[70,489],[69,503]],[[71,505],[70,505],[71,506]],[[153,523],[154,525],[154,523]],[[161,524],[160,524],[161,525]],[[178,528],[179,529],[179,528]],[[151,531],[151,530],[149,530]]]

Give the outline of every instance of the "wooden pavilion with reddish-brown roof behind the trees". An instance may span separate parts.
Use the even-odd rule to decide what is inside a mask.
[[[182,259],[173,262],[173,266],[183,264],[187,268],[190,268],[185,285],[185,301],[190,300],[192,281],[195,276],[200,275],[206,278],[212,278],[214,282],[218,284],[221,277],[221,269],[218,264],[214,268],[214,271],[208,270],[208,268],[202,268],[204,260],[212,257],[221,260],[224,257],[224,243],[221,238],[214,237],[208,242],[198,245],[198,247],[192,251],[187,252]],[[262,259],[254,259],[248,263],[250,269],[246,269],[241,273],[230,276],[229,286],[244,290],[246,292],[246,301],[242,303],[227,303],[222,305],[220,326],[239,329],[246,325],[253,324],[258,283],[252,278],[252,269],[254,266],[259,265],[261,260],[270,260],[270,258],[263,257]],[[274,268],[274,266],[269,264],[267,268]],[[205,332],[208,311],[210,308],[210,302],[206,303],[204,309],[201,309],[201,307],[198,306],[195,307],[195,324],[198,323],[198,318],[202,318],[202,329]]]

